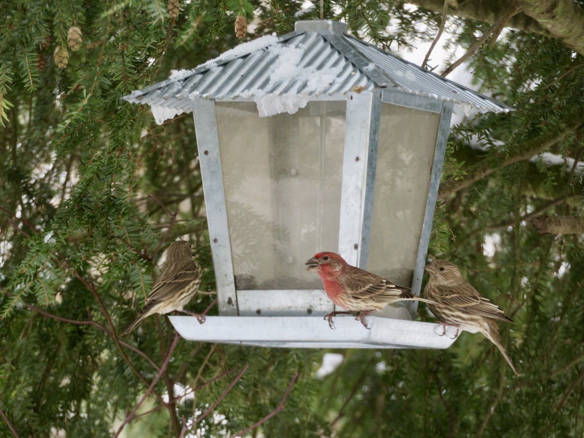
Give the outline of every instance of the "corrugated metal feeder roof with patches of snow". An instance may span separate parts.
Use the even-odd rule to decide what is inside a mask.
[[[371,91],[393,87],[471,105],[479,112],[512,109],[347,35],[343,23],[298,22],[296,29],[279,39],[262,37],[241,44],[237,50],[124,99],[160,107],[166,117],[172,117],[190,112],[195,97],[229,101],[294,95],[311,100],[343,95],[359,86]]]

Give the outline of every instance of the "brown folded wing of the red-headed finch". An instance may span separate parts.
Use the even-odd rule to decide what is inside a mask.
[[[362,301],[388,301],[388,298],[411,298],[409,287],[398,286],[366,270],[359,271],[345,280],[345,287],[352,298]]]

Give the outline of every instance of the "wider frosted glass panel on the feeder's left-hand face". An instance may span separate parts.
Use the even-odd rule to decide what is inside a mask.
[[[338,251],[345,107],[260,118],[253,102],[217,103],[238,290],[322,288],[304,263]]]

